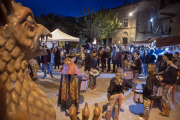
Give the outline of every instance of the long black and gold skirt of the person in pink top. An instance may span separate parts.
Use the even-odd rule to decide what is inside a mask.
[[[61,105],[61,110],[66,110],[72,104],[79,107],[79,93],[80,93],[81,78],[76,75],[61,76],[58,104]]]

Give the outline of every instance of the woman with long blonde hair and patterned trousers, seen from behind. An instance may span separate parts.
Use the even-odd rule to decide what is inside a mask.
[[[106,120],[111,119],[113,107],[115,108],[115,114],[113,120],[118,120],[119,111],[121,109],[121,100],[123,98],[124,94],[124,87],[131,88],[131,84],[129,84],[125,79],[122,79],[122,72],[121,69],[117,69],[116,76],[111,79],[109,88],[107,90],[108,92],[108,100],[109,105],[106,110],[105,118]]]

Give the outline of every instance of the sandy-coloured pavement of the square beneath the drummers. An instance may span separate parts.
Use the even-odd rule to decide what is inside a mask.
[[[60,72],[59,70],[53,71],[54,78],[51,78],[49,75],[47,79],[43,79],[43,73],[39,72],[39,82],[38,85],[41,90],[43,90],[47,97],[52,101],[54,108],[56,110],[57,120],[70,120],[68,116],[65,116],[64,111],[60,111],[60,107],[57,106],[59,85],[60,85]],[[90,118],[92,120],[94,104],[98,103],[98,105],[103,109],[105,109],[107,101],[107,88],[109,86],[111,78],[113,78],[115,74],[113,73],[101,73],[101,75],[97,78],[97,89],[96,91],[88,88],[87,92],[83,92],[80,94],[80,108],[78,117],[82,119],[82,109],[85,103],[88,103],[90,108]],[[139,77],[139,82],[142,83],[145,81],[145,77]],[[138,85],[137,87],[141,87]],[[143,104],[138,104],[133,101],[133,94],[130,93],[131,89],[125,91],[122,107],[120,111],[119,120],[137,120],[140,115],[143,113]],[[180,86],[178,86],[178,92],[175,94],[175,109],[171,109],[170,117],[162,117],[159,115],[160,109],[157,106],[158,104],[154,103],[153,109],[150,113],[149,120],[180,120]]]

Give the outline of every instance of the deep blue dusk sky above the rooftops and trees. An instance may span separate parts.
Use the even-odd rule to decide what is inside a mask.
[[[35,16],[42,14],[61,14],[64,16],[77,16],[81,15],[83,8],[87,9],[92,7],[98,11],[102,6],[103,8],[114,8],[124,5],[125,0],[15,0],[21,2],[23,6],[29,7]],[[139,0],[126,0],[127,4],[137,2]]]

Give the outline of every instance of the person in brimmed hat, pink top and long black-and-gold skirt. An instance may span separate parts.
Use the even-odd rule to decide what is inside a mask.
[[[72,104],[74,104],[77,109],[79,106],[81,74],[77,65],[74,64],[75,58],[75,51],[71,51],[70,55],[66,56],[61,72],[58,96],[58,104],[61,105],[61,110],[69,109]]]

